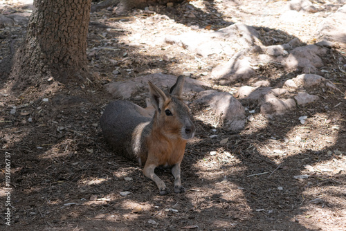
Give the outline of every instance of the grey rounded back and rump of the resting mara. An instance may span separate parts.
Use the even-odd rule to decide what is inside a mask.
[[[150,121],[147,111],[125,100],[109,103],[100,119],[103,136],[117,154],[138,160],[146,153],[144,144]]]

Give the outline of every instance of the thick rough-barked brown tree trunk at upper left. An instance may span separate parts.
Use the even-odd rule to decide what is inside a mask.
[[[35,0],[26,39],[15,55],[12,88],[48,79],[81,82],[87,73],[91,0]],[[85,78],[84,78],[85,79]]]

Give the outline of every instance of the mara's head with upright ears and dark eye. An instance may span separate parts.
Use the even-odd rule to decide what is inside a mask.
[[[176,83],[165,94],[157,86],[149,82],[150,101],[156,110],[154,120],[161,131],[170,138],[189,140],[194,137],[194,124],[191,120],[190,109],[181,99],[184,77],[179,76]]]

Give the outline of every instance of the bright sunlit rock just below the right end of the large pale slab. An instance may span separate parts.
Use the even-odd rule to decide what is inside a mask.
[[[243,52],[237,53],[226,64],[213,68],[212,78],[220,80],[220,84],[231,84],[239,80],[248,80],[255,75],[250,58],[242,54]]]

